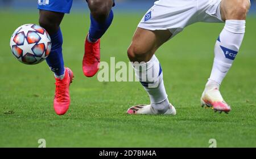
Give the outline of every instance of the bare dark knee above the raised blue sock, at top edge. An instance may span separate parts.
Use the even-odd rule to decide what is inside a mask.
[[[112,0],[88,0],[90,13],[97,22],[105,22],[112,8]]]

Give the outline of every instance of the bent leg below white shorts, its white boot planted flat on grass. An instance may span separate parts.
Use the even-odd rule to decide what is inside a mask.
[[[154,55],[155,51],[171,35],[171,32],[168,30],[149,31],[137,28],[127,54],[130,61],[133,62],[135,75],[139,78],[150,97],[151,104],[133,106],[127,110],[127,113],[176,114],[174,106],[168,101],[163,83],[163,71],[158,59]]]

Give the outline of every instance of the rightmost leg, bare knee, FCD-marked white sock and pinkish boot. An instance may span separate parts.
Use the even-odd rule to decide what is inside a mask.
[[[230,111],[218,90],[242,44],[249,7],[249,0],[222,0],[220,3],[225,27],[216,41],[212,72],[201,97],[202,105],[213,106],[215,111]]]

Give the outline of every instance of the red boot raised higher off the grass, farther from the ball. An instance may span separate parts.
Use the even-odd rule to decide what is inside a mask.
[[[84,48],[82,71],[86,77],[92,77],[98,72],[100,64],[100,39],[96,42],[89,42],[87,35]]]

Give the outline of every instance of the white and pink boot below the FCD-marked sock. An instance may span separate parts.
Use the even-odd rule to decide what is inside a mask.
[[[222,111],[224,111],[227,114],[231,110],[230,106],[222,98],[217,87],[213,87],[212,89],[208,89],[203,92],[201,97],[201,106],[206,106],[205,108],[212,108],[215,112],[218,111],[222,113]]]

